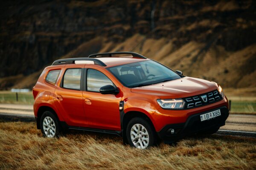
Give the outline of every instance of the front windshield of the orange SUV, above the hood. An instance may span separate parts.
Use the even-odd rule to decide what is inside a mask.
[[[108,68],[108,70],[123,85],[129,88],[152,85],[180,78],[177,73],[153,60],[118,65]]]

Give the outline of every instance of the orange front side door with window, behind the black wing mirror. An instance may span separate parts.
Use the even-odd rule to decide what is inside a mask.
[[[86,68],[85,68],[86,69]],[[119,102],[120,93],[101,94],[99,89],[104,85],[115,85],[101,71],[87,68],[84,74],[86,89],[83,91],[84,112],[87,116],[89,127],[121,130]]]

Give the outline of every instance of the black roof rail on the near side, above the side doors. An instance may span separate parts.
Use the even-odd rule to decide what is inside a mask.
[[[74,64],[75,61],[87,60],[87,61],[94,61],[95,64],[101,65],[103,67],[107,66],[104,62],[100,61],[99,59],[94,58],[69,58],[69,59],[58,59],[52,63],[52,65],[61,65],[61,64]]]

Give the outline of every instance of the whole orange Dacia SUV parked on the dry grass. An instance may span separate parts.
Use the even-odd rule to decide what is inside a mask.
[[[129,57],[130,56],[130,57]],[[133,52],[59,59],[33,88],[37,128],[117,134],[145,149],[225,125],[229,105],[215,82],[183,76]]]

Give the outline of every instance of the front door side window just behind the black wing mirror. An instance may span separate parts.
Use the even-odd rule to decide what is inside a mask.
[[[87,91],[99,92],[104,85],[113,85],[113,82],[100,71],[88,69],[87,71]]]

